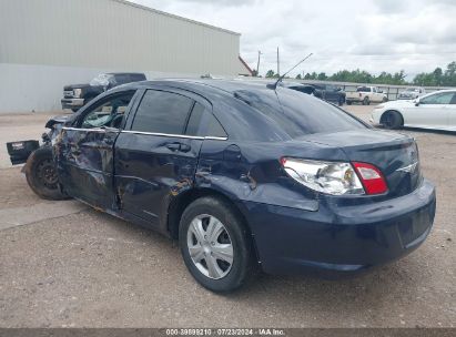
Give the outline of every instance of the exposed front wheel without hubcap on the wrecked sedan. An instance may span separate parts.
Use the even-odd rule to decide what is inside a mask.
[[[43,146],[32,152],[27,160],[26,177],[30,188],[45,200],[65,200],[60,192],[52,147]]]

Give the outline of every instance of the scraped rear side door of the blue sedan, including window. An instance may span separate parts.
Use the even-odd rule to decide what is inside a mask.
[[[204,106],[185,91],[149,89],[115,142],[115,188],[121,211],[153,227],[173,195],[191,188],[204,137],[186,134],[190,114]]]

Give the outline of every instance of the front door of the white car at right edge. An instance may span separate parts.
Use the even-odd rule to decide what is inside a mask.
[[[423,127],[443,127],[448,123],[448,112],[454,92],[436,92],[404,108],[404,124]]]

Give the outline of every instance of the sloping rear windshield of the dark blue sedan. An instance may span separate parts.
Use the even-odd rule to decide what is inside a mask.
[[[322,100],[286,89],[277,89],[276,92],[277,95],[273,90],[241,90],[235,92],[235,96],[270,119],[292,139],[313,133],[366,129],[352,115]]]

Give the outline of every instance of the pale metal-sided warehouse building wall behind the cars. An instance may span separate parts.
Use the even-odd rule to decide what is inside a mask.
[[[60,109],[100,72],[236,75],[240,34],[123,0],[0,0],[0,112]]]

